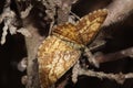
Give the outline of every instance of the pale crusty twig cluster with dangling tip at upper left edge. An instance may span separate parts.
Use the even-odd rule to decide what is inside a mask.
[[[17,14],[10,9],[10,3],[11,3],[10,0],[7,0],[7,3],[3,8],[3,13],[0,16],[0,23],[1,22],[4,23],[2,29],[3,32],[1,36],[1,44],[6,43],[6,36],[8,34],[8,30],[11,35],[17,34],[17,32],[19,32],[25,36],[30,36],[30,33],[24,28],[20,28],[18,30]]]

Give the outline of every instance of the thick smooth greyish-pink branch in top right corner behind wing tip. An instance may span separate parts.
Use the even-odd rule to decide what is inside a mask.
[[[123,21],[133,13],[133,0],[113,0],[108,7],[109,14],[102,26]]]

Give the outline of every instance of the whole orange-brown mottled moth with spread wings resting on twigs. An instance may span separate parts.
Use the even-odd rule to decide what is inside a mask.
[[[63,23],[53,28],[38,51],[41,88],[49,88],[61,78],[81,56],[100,31],[108,15],[105,9],[81,18],[75,24]]]

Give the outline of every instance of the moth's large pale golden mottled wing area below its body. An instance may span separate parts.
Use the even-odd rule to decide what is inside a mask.
[[[59,37],[48,36],[38,52],[39,77],[42,88],[49,88],[70,69],[79,59],[80,53]]]

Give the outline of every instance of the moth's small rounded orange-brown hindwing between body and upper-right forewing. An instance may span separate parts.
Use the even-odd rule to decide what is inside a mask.
[[[74,24],[72,23],[63,23],[53,28],[52,34],[58,35],[60,38],[75,42],[81,44],[82,42],[79,40],[79,32]]]

